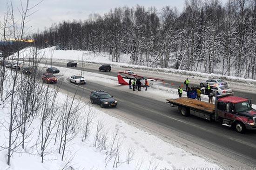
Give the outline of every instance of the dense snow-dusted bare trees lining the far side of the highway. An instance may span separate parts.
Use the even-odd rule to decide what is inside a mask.
[[[108,52],[118,62],[256,79],[256,0],[186,0],[184,10],[119,7],[31,36],[36,46]]]

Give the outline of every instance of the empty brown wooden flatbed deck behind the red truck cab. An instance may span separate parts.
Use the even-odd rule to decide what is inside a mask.
[[[166,99],[172,106],[178,106],[182,115],[189,114],[201,117],[206,120],[215,119],[215,105],[205,101],[198,101],[195,99],[180,97],[177,99]]]

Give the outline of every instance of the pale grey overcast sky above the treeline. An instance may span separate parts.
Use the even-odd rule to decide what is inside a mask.
[[[27,0],[21,0],[26,2]],[[30,6],[34,6],[40,0],[30,0]],[[227,0],[221,0],[224,4]],[[7,11],[7,0],[0,0],[0,19]],[[115,7],[129,6],[135,7],[137,4],[145,6],[155,6],[158,11],[164,6],[176,6],[182,12],[185,0],[43,0],[33,11],[28,20],[27,26],[30,26],[33,32],[43,31],[45,27],[50,27],[53,23],[59,23],[62,20],[88,19],[90,13],[108,13]],[[25,4],[23,4],[25,5]],[[14,13],[19,17],[20,0],[13,0]],[[32,11],[30,11],[31,13]]]

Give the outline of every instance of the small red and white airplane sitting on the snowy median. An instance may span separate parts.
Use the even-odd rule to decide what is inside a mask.
[[[139,75],[135,75],[135,74],[129,74],[126,72],[117,72],[117,79],[118,79],[118,83],[121,85],[129,85],[128,82],[126,82],[123,77],[125,77],[125,79],[139,79],[142,83],[142,87],[145,84],[145,80],[148,79],[148,86],[151,86],[154,84],[154,82],[161,82],[164,84],[164,80],[162,79],[157,79],[157,78],[152,78],[152,77],[143,77],[143,76],[139,76]]]

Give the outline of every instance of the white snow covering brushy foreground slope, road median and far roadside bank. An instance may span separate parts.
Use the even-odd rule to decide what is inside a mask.
[[[31,57],[31,51],[32,48],[21,51],[20,59]],[[111,63],[116,67],[152,69],[129,65],[125,63],[125,59],[123,59],[124,63],[113,63],[108,56],[88,51],[47,48],[39,50],[38,56],[60,62],[83,60],[92,63]],[[23,63],[26,64],[28,63]],[[48,66],[37,65],[38,69],[45,69]],[[77,74],[74,69],[59,69],[61,69],[61,74],[57,75],[59,81],[65,82],[67,77]],[[172,70],[156,71],[168,73]],[[194,74],[189,71],[184,73]],[[82,74],[88,82],[96,80],[97,83],[104,82],[105,86],[109,87],[116,82],[116,77],[112,76],[86,71]],[[208,75],[201,74],[201,76]],[[6,100],[0,106],[0,170],[159,170],[189,167],[220,169],[221,167],[207,158],[202,158],[201,155],[182,148],[181,145],[167,143],[139,126],[113,117],[108,113],[109,111],[89,104],[89,99],[82,99],[78,94],[74,96],[61,92],[59,89],[61,83],[57,86],[42,84],[37,80],[33,81],[33,76],[18,74],[17,84],[12,93],[13,77],[15,72],[8,69],[3,95]],[[235,77],[230,79],[240,80]],[[127,90],[126,86],[120,88]],[[29,93],[30,91],[32,93]],[[155,100],[160,101],[163,98],[178,97],[176,89],[157,85],[150,88],[148,93],[140,95],[146,97],[153,95]],[[208,98],[202,96],[202,99]],[[12,138],[10,166],[8,166],[10,123]]]

